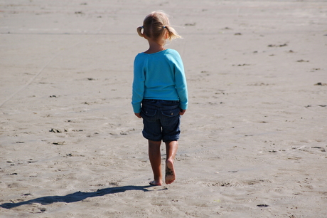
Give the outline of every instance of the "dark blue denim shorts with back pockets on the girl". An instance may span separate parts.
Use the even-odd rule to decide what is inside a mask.
[[[151,141],[177,141],[181,130],[178,100],[142,100],[143,136]]]

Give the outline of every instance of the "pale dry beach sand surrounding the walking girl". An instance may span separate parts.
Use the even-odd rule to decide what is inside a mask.
[[[158,9],[190,103],[149,187],[130,101]],[[326,1],[1,0],[0,51],[0,217],[327,217]]]

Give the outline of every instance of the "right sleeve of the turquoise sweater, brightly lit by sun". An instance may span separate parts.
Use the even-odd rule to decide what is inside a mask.
[[[174,71],[176,90],[179,97],[180,108],[186,110],[188,108],[188,87],[186,83],[183,61],[178,53],[176,53],[176,64]]]

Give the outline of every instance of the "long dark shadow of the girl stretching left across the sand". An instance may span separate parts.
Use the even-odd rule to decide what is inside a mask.
[[[4,204],[0,204],[0,207],[11,209],[13,207],[18,207],[24,204],[33,204],[33,203],[39,203],[45,205],[45,204],[53,204],[55,202],[66,202],[66,203],[80,202],[88,197],[99,197],[105,194],[114,194],[114,193],[129,191],[129,190],[151,192],[151,190],[146,189],[148,187],[151,187],[151,185],[147,185],[147,186],[127,185],[122,187],[108,187],[105,189],[97,190],[97,192],[75,192],[73,194],[67,194],[65,196],[56,195],[56,196],[38,197],[36,199],[30,199],[25,202],[4,203]]]

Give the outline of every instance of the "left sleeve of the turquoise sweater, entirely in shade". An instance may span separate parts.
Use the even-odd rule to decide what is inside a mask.
[[[141,101],[144,96],[144,65],[142,64],[140,58],[136,56],[134,60],[134,80],[133,80],[133,90],[132,90],[132,107],[134,113],[141,112]]]

